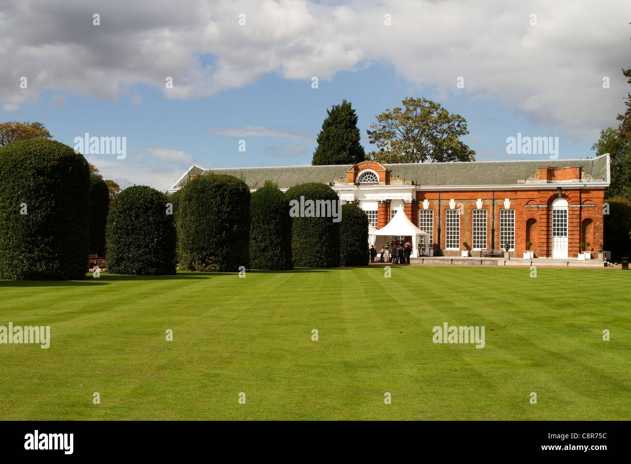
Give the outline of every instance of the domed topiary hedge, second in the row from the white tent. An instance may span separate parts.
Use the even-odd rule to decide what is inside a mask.
[[[292,211],[292,255],[297,267],[334,268],[339,266],[339,222],[322,217],[321,207],[310,208],[310,201],[329,202],[338,215],[338,194],[319,182],[298,184],[286,191]],[[301,199],[302,197],[302,199]],[[322,205],[322,203],[320,203]],[[331,210],[331,212],[334,212]],[[320,213],[320,217],[317,214]],[[330,215],[329,215],[330,216]]]

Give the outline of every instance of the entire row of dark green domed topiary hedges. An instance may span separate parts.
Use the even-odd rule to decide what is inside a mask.
[[[328,215],[314,217],[309,200],[326,201]],[[316,182],[286,194],[266,182],[251,196],[244,181],[211,174],[170,197],[133,186],[108,203],[105,182],[73,148],[45,139],[1,148],[0,278],[83,278],[88,253],[134,275],[174,274],[178,260],[230,272],[367,265],[365,213],[340,210],[333,189]]]

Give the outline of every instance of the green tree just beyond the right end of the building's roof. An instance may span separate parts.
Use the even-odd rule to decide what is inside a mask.
[[[613,128],[601,131],[600,138],[594,143],[592,150],[596,150],[598,156],[610,154],[609,195],[631,198],[631,141],[623,141],[618,134],[619,131]]]

